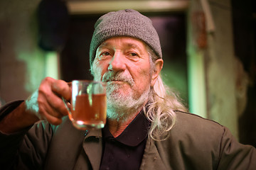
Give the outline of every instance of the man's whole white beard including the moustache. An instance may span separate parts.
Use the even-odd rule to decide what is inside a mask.
[[[93,64],[94,77],[96,81],[100,81],[100,69],[96,69],[96,64]],[[133,116],[133,113],[138,112],[138,109],[142,107],[149,98],[149,89],[144,91],[144,93],[135,98],[135,94],[132,92],[132,86],[134,85],[134,80],[131,75],[124,76],[122,72],[106,72],[102,81],[107,82],[107,118],[110,120],[124,121]],[[115,83],[115,81],[122,81],[123,83],[129,84],[130,88],[124,93],[119,93],[122,91],[122,84]]]

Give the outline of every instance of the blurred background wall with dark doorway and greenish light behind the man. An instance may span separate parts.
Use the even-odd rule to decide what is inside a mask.
[[[192,113],[256,146],[255,6],[254,0],[0,1],[1,104],[27,98],[44,77],[92,79],[95,21],[134,8],[159,32],[165,83]]]

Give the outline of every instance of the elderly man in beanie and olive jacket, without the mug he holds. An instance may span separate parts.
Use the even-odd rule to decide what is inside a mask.
[[[75,129],[60,98],[70,99],[68,84],[46,78],[26,101],[1,108],[1,167],[256,169],[254,147],[167,93],[159,37],[146,16],[127,9],[100,17],[90,64],[95,80],[107,82],[105,128]]]

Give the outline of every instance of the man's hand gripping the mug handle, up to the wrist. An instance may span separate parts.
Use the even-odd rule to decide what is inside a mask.
[[[62,117],[68,115],[62,97],[69,100],[71,91],[68,84],[62,80],[47,77],[43,79],[38,91],[26,101],[27,110],[33,111],[38,118],[46,119],[53,125],[59,125]],[[36,98],[34,100],[33,98]],[[31,107],[32,106],[32,107]]]

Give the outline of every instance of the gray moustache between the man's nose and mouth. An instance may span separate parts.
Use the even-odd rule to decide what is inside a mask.
[[[124,81],[129,85],[134,85],[134,79],[132,79],[131,75],[124,76],[122,72],[106,72],[102,77],[103,82],[107,81]]]

